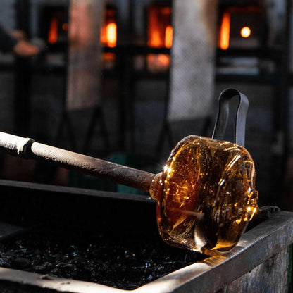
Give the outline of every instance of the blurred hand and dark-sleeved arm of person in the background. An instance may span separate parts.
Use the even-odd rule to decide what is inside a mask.
[[[39,54],[39,48],[25,40],[25,33],[14,31],[9,34],[0,26],[0,51],[11,52],[20,58]]]

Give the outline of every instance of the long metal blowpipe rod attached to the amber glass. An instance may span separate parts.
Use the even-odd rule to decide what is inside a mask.
[[[155,174],[40,144],[34,139],[0,132],[0,150],[13,156],[53,163],[70,170],[149,192]]]

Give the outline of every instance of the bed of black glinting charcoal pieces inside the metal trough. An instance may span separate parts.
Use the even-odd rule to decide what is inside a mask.
[[[151,237],[153,236],[153,237]],[[135,289],[204,258],[149,235],[38,229],[0,243],[0,266]]]

